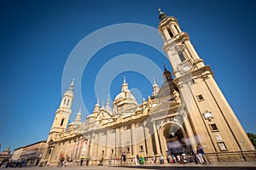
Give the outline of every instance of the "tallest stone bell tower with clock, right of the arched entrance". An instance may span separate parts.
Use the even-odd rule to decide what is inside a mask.
[[[185,112],[195,139],[212,161],[227,158],[247,161],[253,144],[215,82],[211,67],[205,65],[176,18],[160,10],[159,32],[174,75],[173,82],[185,104]],[[236,154],[234,154],[236,153]]]

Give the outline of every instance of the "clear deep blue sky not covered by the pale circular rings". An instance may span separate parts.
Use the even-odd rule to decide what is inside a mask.
[[[85,36],[119,23],[157,28],[158,8],[175,16],[182,30],[189,32],[198,54],[212,66],[241,125],[246,132],[256,133],[255,7],[253,0],[1,1],[0,151],[47,139],[61,101],[65,63]],[[140,54],[153,59],[159,67],[165,64],[171,69],[162,54],[140,43],[119,42],[102,48],[86,65],[81,82],[89,112],[96,104],[97,71],[121,54]],[[111,83],[112,99],[120,91],[123,76],[129,87],[138,89],[143,97],[152,94],[147,78],[136,71],[125,71]],[[159,83],[160,77],[156,78]],[[63,88],[67,89],[68,84]],[[79,111],[75,102],[71,120]],[[84,120],[86,113],[82,114]]]

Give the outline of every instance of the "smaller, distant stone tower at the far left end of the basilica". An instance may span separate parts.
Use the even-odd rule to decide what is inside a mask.
[[[72,113],[71,106],[73,102],[73,81],[70,83],[67,92],[62,96],[61,105],[55,112],[55,120],[49,131],[47,142],[54,137],[55,133],[66,131],[69,116]]]

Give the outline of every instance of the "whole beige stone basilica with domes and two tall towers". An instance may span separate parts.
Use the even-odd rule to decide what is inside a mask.
[[[54,166],[61,158],[78,162],[82,157],[89,165],[108,164],[124,152],[132,163],[137,155],[159,160],[189,156],[199,147],[209,163],[256,160],[253,144],[189,34],[161,10],[159,19],[163,49],[172,65],[172,72],[164,67],[163,84],[154,81],[152,94],[138,104],[124,79],[112,106],[109,98],[102,107],[97,101],[84,122],[79,111],[69,123],[75,88],[71,82],[55,112],[41,163]]]

